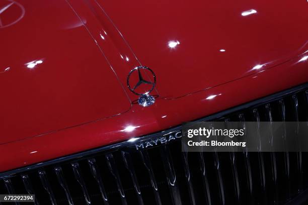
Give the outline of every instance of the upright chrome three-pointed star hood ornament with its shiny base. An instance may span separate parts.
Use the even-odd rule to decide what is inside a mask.
[[[141,70],[144,70],[152,78],[151,81],[147,81],[143,78]],[[137,79],[137,80],[136,80]],[[133,85],[133,86],[132,86]],[[134,94],[140,95],[138,104],[143,107],[153,105],[155,97],[149,95],[149,93],[155,88],[156,76],[155,73],[146,66],[138,66],[132,69],[127,76],[127,86]]]

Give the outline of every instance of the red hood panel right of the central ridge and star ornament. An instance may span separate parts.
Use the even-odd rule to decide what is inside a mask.
[[[98,1],[138,60],[174,98],[307,50],[307,1]],[[116,5],[116,6],[115,6]]]

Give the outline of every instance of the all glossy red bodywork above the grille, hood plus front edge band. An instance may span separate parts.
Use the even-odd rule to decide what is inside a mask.
[[[9,156],[0,171],[159,132],[308,81],[306,1],[19,3],[25,16],[0,28],[0,69],[10,67],[0,73],[0,156]],[[250,9],[257,13],[242,16]],[[160,96],[148,108],[130,108],[137,96],[126,77],[138,65],[157,75],[152,94]]]

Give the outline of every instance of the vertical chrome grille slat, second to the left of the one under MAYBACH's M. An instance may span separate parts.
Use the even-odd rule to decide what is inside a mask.
[[[107,164],[108,164],[109,170],[110,170],[111,174],[113,175],[113,177],[116,181],[122,204],[127,205],[124,189],[123,189],[123,186],[122,186],[122,182],[121,182],[121,179],[120,179],[120,175],[119,175],[118,168],[116,166],[114,157],[113,157],[112,154],[107,154],[106,159],[107,159]]]

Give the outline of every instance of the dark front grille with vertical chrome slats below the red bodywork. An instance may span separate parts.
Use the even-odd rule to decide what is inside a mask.
[[[307,102],[305,84],[202,120],[307,121]],[[36,194],[36,204],[284,204],[306,189],[307,160],[295,152],[185,153],[180,140],[139,150],[124,142],[2,173],[0,193]]]

